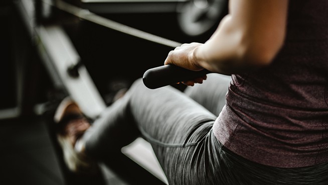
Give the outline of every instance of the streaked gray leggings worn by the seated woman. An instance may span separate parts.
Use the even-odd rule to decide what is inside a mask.
[[[328,184],[328,164],[276,168],[244,159],[217,141],[212,126],[225,105],[230,77],[209,74],[184,93],[147,89],[136,80],[84,135],[86,153],[106,157],[139,136],[152,146],[169,184]],[[188,95],[188,96],[186,96]]]

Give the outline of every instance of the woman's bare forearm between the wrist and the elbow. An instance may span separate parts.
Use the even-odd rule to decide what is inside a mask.
[[[233,29],[231,16],[226,16],[213,36],[195,48],[191,57],[195,64],[213,72],[234,73],[243,68],[244,48],[241,30]]]

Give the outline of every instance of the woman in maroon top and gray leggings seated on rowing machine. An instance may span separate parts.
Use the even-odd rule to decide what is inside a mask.
[[[231,82],[211,74],[181,93],[137,80],[91,127],[66,101],[56,117],[66,120],[63,143],[101,160],[141,134],[169,184],[327,184],[327,9],[324,0],[231,0],[205,44],[165,60]]]

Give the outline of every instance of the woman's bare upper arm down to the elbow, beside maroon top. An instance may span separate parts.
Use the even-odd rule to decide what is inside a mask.
[[[246,59],[271,61],[284,41],[287,9],[288,0],[230,0],[231,23],[241,33]]]

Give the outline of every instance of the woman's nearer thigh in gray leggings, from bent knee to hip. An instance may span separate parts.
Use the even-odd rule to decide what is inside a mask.
[[[217,118],[181,91],[147,89],[136,82],[130,110],[151,144],[170,184],[213,184],[220,178],[220,154],[212,126]]]

